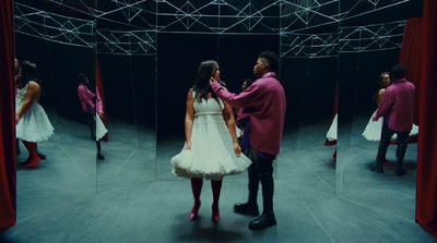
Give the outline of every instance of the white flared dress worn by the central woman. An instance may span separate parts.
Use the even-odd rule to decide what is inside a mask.
[[[194,96],[194,93],[193,93]],[[194,96],[196,97],[196,96]],[[184,178],[221,180],[224,175],[244,172],[251,163],[245,155],[237,157],[234,144],[223,120],[222,100],[194,100],[194,120],[191,149],[172,158],[173,173]]]

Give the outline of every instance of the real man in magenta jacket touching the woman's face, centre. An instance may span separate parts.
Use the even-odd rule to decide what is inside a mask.
[[[241,147],[252,160],[249,173],[249,199],[236,204],[237,214],[258,216],[257,194],[262,185],[263,212],[249,223],[250,230],[264,229],[276,224],[273,212],[273,160],[280,153],[285,120],[285,93],[276,78],[279,58],[271,51],[258,56],[253,74],[258,77],[239,95],[231,94],[218,82],[211,81],[214,93],[235,108],[244,108],[246,119]]]

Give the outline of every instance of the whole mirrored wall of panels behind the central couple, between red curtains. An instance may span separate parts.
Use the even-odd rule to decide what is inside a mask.
[[[277,189],[389,211],[381,198],[399,198],[413,208],[417,144],[409,144],[406,177],[394,178],[390,166],[377,174],[367,166],[378,142],[362,133],[377,109],[377,76],[399,63],[405,20],[421,16],[422,8],[421,1],[16,0],[16,57],[38,65],[40,104],[55,126],[38,143],[47,158],[37,169],[19,169],[19,193],[42,202],[66,195],[59,197],[66,202],[42,204],[52,207],[182,180],[172,173],[170,158],[184,146],[187,94],[199,63],[216,60],[228,90],[239,94],[246,78],[255,80],[258,54],[272,50],[287,97]],[[92,117],[79,98],[80,73],[99,96]],[[90,118],[107,130],[97,142]],[[392,162],[394,149],[387,155]],[[21,151],[19,160],[26,157],[23,145]],[[246,186],[246,177],[225,180]],[[31,205],[24,211],[36,214]]]

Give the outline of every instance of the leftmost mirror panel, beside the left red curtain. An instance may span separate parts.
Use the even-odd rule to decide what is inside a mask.
[[[95,7],[93,1],[87,4]],[[88,15],[51,2],[15,1],[15,54],[37,65],[39,104],[55,127],[48,139],[37,142],[46,159],[33,169],[17,165],[20,219],[95,195],[95,142],[76,82],[80,72],[94,76],[94,21]],[[28,155],[22,143],[20,147],[19,162]]]

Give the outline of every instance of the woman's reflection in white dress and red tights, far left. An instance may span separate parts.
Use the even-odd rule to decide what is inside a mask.
[[[42,88],[37,83],[36,64],[29,61],[21,63],[15,98],[16,137],[23,141],[28,150],[25,168],[36,167],[40,158],[36,153],[36,143],[54,134],[54,127],[39,105]]]

